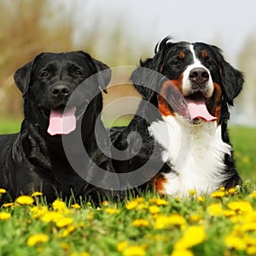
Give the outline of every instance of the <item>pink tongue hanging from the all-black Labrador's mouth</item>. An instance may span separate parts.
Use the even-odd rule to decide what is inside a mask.
[[[51,135],[68,134],[76,129],[77,119],[75,108],[66,109],[55,108],[50,111],[49,127],[47,132]]]

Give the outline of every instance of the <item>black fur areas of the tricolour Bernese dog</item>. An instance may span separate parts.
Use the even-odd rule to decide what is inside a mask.
[[[186,63],[180,63],[181,61],[177,59],[177,53],[188,47],[188,45],[189,44],[186,42],[172,43],[170,38],[167,37],[163,39],[160,44],[156,45],[154,57],[148,58],[146,61],[141,61],[140,67],[132,73],[131,82],[133,82],[135,88],[142,94],[144,101],[141,102],[137,108],[137,114],[131,120],[130,125],[127,127],[113,127],[111,134],[115,148],[119,150],[130,148],[130,151],[138,151],[138,153],[130,160],[113,160],[113,166],[116,172],[131,172],[144,166],[148,162],[154,148],[156,152],[158,152],[156,156],[159,156],[155,158],[154,163],[156,166],[162,166],[158,173],[172,172],[172,166],[170,166],[170,164],[161,163],[160,154],[164,149],[148,132],[148,126],[153,121],[162,119],[161,114],[153,113],[148,107],[150,104],[153,104],[155,108],[158,108],[158,93],[156,93],[156,91],[160,91],[162,84],[166,80],[178,79],[185,70]],[[211,75],[215,79],[214,82],[217,81],[223,90],[221,115],[218,125],[221,125],[224,143],[230,144],[230,137],[227,131],[227,123],[230,119],[229,106],[233,106],[234,98],[241,91],[244,81],[243,75],[241,72],[231,67],[228,62],[224,61],[221,50],[216,46],[199,43],[198,47],[207,47],[209,55],[211,56],[208,62],[208,64],[211,65],[211,67],[209,67]],[[146,67],[147,69],[141,67]],[[164,78],[152,71],[160,73]],[[172,102],[172,99],[169,100]],[[172,106],[175,105],[175,102],[183,102],[183,98],[173,100]],[[183,106],[186,106],[185,102],[183,102]],[[185,111],[185,108],[173,109],[173,111],[182,113]],[[143,117],[147,117],[148,120],[143,119]],[[137,137],[133,138],[129,136],[133,131],[137,131],[141,135],[143,140],[142,148],[139,148]],[[241,178],[236,172],[233,153],[231,155],[225,155],[224,165],[226,166],[225,172],[229,174],[229,178],[219,185],[230,188],[241,183]],[[155,166],[152,165],[151,168],[144,170],[142,175],[148,172],[148,177],[152,177],[152,173],[155,172],[154,167]],[[148,180],[148,178],[145,177],[145,180]],[[145,188],[145,186],[148,187],[148,184],[150,186],[150,180],[148,180],[148,183],[144,183],[141,188]]]

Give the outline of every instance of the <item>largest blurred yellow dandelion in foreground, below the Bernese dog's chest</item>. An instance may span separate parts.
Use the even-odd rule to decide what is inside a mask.
[[[203,226],[189,226],[183,236],[174,245],[175,250],[188,249],[206,240],[206,231]]]

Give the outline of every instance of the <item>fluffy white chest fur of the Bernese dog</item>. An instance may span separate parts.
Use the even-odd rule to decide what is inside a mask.
[[[226,179],[224,154],[231,147],[221,137],[221,126],[215,122],[190,125],[183,119],[167,116],[149,126],[148,130],[165,150],[164,162],[174,172],[164,173],[167,182],[164,194],[186,196],[189,190],[209,194]]]

